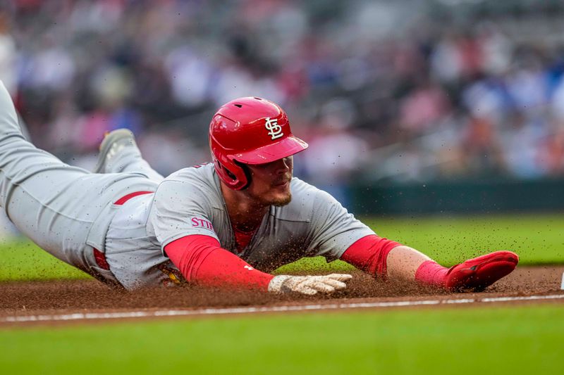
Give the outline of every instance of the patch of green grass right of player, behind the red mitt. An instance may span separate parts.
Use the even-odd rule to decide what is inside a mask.
[[[522,264],[564,262],[564,215],[424,217],[367,220],[376,233],[453,265],[494,250],[513,250]]]

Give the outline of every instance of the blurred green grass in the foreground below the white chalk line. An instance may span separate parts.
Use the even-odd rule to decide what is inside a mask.
[[[0,330],[4,374],[564,374],[564,307]]]

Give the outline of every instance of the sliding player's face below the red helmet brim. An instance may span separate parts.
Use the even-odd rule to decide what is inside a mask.
[[[251,184],[246,192],[251,198],[264,205],[282,206],[290,203],[290,180],[294,168],[292,156],[247,167],[251,172]]]

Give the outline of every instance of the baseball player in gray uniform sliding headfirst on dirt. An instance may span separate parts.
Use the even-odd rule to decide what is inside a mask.
[[[379,237],[328,193],[292,176],[307,144],[286,113],[262,98],[219,108],[209,127],[213,163],[164,178],[133,134],[111,132],[91,173],[23,138],[0,87],[0,203],[25,235],[100,281],[127,289],[188,282],[273,293],[331,293],[348,274],[273,276],[316,255],[379,278],[479,291],[515,269],[498,251],[445,268]]]

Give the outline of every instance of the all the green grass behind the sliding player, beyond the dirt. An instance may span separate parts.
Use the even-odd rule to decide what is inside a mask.
[[[520,265],[564,262],[564,215],[507,215],[472,217],[365,218],[380,236],[400,241],[443,265],[493,250],[514,250]],[[278,272],[297,269],[346,270],[344,262],[329,265],[324,258],[305,259]],[[82,272],[56,260],[27,241],[0,245],[0,281],[80,279]]]

